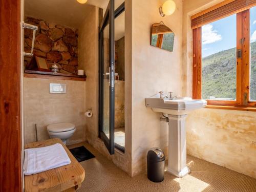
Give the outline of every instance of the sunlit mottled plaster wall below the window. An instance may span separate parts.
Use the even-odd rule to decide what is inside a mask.
[[[187,153],[256,178],[256,114],[202,109],[188,115]]]

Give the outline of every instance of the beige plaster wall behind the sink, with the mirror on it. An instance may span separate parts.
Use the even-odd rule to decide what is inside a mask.
[[[145,170],[150,148],[161,147],[167,155],[168,125],[160,122],[160,114],[145,107],[145,98],[159,91],[181,96],[184,85],[182,1],[175,1],[176,11],[172,16],[161,17],[158,8],[164,2],[141,0],[133,1],[132,5],[132,176]],[[150,46],[151,26],[161,21],[175,33],[173,52]]]

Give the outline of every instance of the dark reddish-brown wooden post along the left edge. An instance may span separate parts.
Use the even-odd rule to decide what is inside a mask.
[[[22,191],[20,1],[0,0],[0,191]]]

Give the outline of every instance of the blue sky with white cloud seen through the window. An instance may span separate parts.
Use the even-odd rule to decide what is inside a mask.
[[[202,28],[202,56],[237,46],[236,14],[217,20]],[[256,7],[250,10],[250,41],[256,41]]]

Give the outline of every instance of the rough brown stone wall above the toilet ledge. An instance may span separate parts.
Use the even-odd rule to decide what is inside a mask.
[[[48,63],[58,63],[62,70],[76,73],[78,67],[78,30],[42,19],[26,17],[25,23],[36,25],[34,55],[44,57]],[[24,30],[24,50],[31,51],[33,31]],[[24,58],[25,68],[31,57]]]

